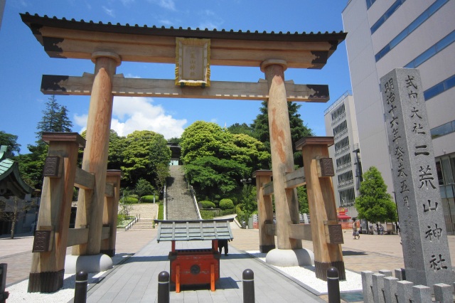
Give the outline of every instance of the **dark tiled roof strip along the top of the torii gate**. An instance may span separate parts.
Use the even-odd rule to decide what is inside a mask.
[[[166,28],[165,26],[134,26],[129,23],[122,25],[120,23],[112,24],[102,23],[101,21],[95,23],[94,21],[76,21],[75,19],[68,20],[66,18],[50,18],[48,16],[38,16],[38,14],[31,15],[28,12],[21,14],[22,21],[26,23],[33,31],[35,26],[52,26],[57,28],[71,28],[81,31],[100,31],[105,33],[133,33],[138,35],[149,36],[175,36],[183,38],[222,38],[222,39],[235,39],[235,40],[257,40],[257,41],[300,41],[300,42],[317,42],[317,41],[338,41],[341,43],[346,38],[346,33],[340,31],[336,33],[306,33],[306,32],[287,32],[275,33],[274,31],[267,33],[266,31],[234,31],[222,29],[208,30],[208,28],[173,28],[173,26]],[[337,43],[337,44],[338,44]]]

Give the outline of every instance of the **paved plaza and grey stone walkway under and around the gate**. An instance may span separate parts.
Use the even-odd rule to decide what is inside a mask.
[[[96,285],[90,285],[87,302],[156,302],[159,272],[169,271],[170,242],[156,242],[157,230],[130,230],[117,233],[117,256],[114,266]],[[242,302],[242,272],[255,273],[256,302],[326,302],[327,296],[311,293],[282,272],[245,253],[259,250],[259,231],[232,228],[234,240],[230,254],[220,260],[220,280],[216,291],[208,287],[185,288],[171,291],[171,302]],[[399,235],[360,235],[353,240],[350,231],[344,235],[343,256],[346,269],[394,270],[403,267]],[[28,279],[31,267],[31,235],[0,238],[0,263],[8,263],[6,283],[12,285]],[[303,241],[312,250],[311,242]],[[208,241],[177,243],[177,249],[209,248]],[[451,260],[455,260],[455,236],[449,236]],[[70,248],[68,249],[70,253]],[[122,260],[122,261],[120,261]],[[453,262],[453,261],[452,261]],[[172,289],[173,290],[173,289]]]

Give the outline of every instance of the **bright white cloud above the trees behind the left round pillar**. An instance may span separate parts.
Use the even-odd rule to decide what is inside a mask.
[[[174,119],[161,105],[152,103],[153,100],[146,97],[114,97],[111,129],[119,136],[127,136],[135,130],[151,130],[166,139],[180,137],[186,119]],[[82,132],[87,115],[75,116],[75,124],[82,127]]]

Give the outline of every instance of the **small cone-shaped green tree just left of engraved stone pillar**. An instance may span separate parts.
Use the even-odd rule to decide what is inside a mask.
[[[355,198],[358,218],[370,222],[393,222],[397,220],[397,207],[392,196],[387,193],[387,186],[380,171],[371,166],[363,174],[360,184],[360,196]]]

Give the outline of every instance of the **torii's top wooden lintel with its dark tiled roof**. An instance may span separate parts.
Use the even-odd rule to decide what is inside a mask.
[[[175,63],[176,38],[210,39],[210,65],[259,67],[285,60],[287,68],[320,69],[346,33],[271,33],[209,31],[114,25],[21,14],[22,21],[52,58],[92,58],[97,51],[117,53],[122,61]]]

